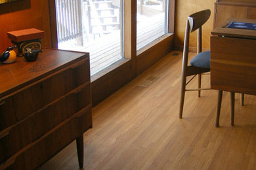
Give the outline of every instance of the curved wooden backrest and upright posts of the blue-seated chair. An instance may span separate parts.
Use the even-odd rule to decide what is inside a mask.
[[[207,22],[211,10],[202,10],[188,16],[186,20],[186,31],[184,37],[184,48],[183,48],[183,61],[182,61],[182,72],[186,72],[186,65],[188,65],[188,47],[189,47],[189,36],[190,32],[198,29],[198,53],[202,52],[202,25]]]

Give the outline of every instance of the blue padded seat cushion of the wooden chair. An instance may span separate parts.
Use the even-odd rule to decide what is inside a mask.
[[[205,69],[210,68],[210,58],[211,58],[211,52],[205,51],[200,52],[194,58],[190,60],[190,65],[193,65],[194,67],[201,67]]]

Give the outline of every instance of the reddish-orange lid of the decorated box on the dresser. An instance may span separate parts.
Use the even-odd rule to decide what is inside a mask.
[[[7,35],[11,41],[14,42],[22,42],[28,41],[32,39],[41,39],[43,37],[44,31],[39,29],[30,28],[30,29],[22,29],[18,31],[10,31],[7,32]]]

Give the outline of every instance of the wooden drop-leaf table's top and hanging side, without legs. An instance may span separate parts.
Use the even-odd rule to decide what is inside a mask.
[[[226,28],[231,21],[256,20],[230,18],[211,34],[211,88],[256,94],[256,30]]]

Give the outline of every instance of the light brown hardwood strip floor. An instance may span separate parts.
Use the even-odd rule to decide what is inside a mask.
[[[217,128],[217,91],[204,91],[200,98],[187,92],[179,119],[182,54],[177,53],[93,109],[83,169],[256,169],[256,97],[245,95],[242,107],[236,95],[232,127],[224,92]],[[203,75],[203,86],[209,86],[209,75]],[[39,169],[79,169],[75,143]]]

